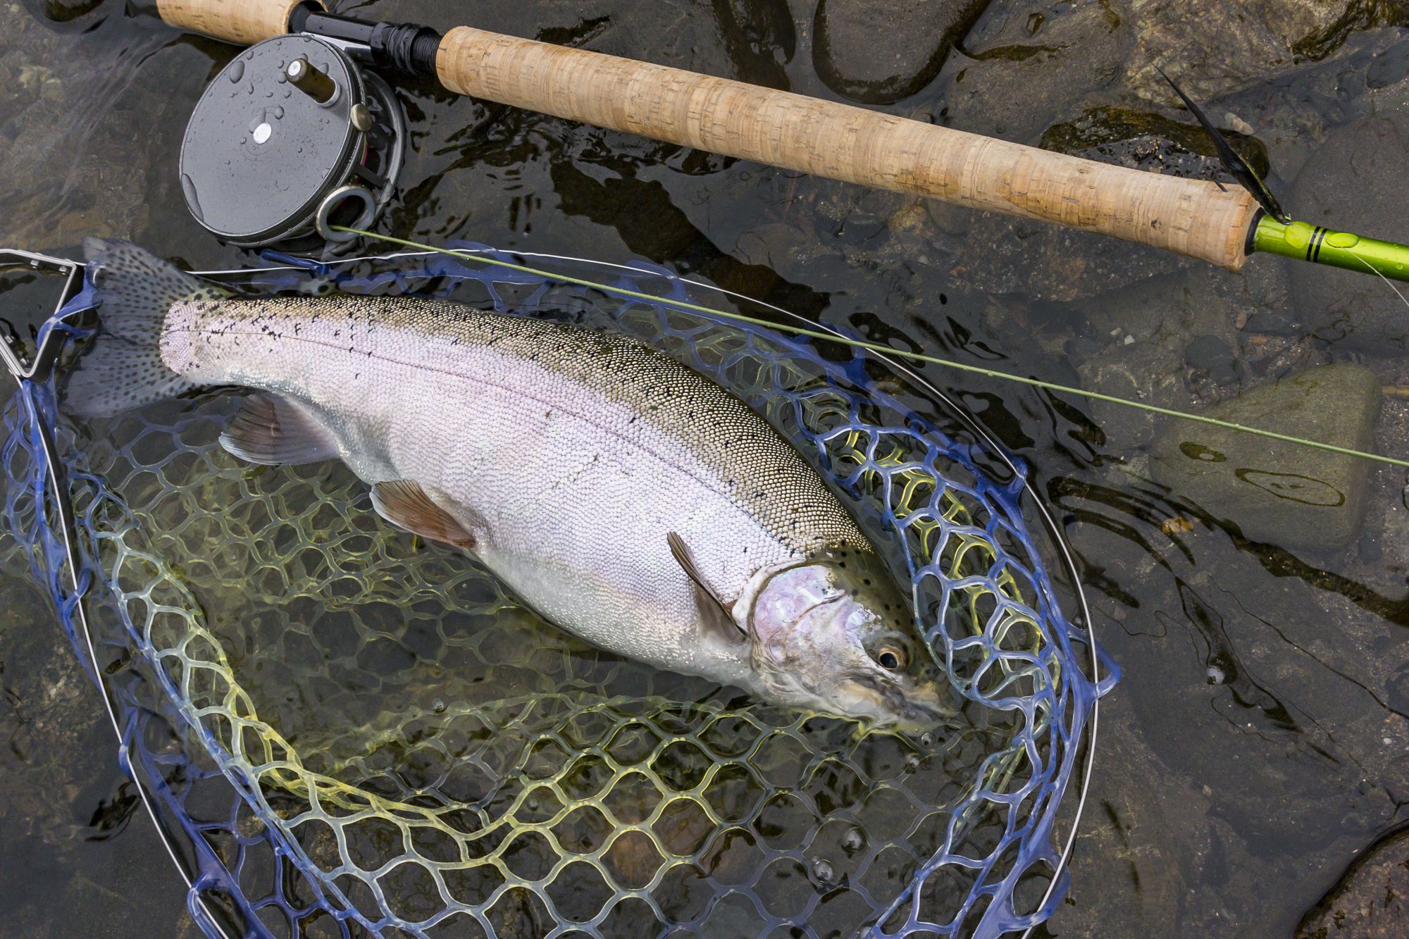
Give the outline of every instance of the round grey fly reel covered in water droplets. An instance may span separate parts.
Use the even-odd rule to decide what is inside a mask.
[[[392,87],[327,39],[280,35],[210,83],[180,149],[196,220],[241,248],[337,254],[390,202],[406,155]]]

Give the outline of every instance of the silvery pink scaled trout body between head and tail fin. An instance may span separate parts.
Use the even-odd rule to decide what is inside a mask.
[[[865,544],[762,417],[620,336],[402,297],[275,297],[172,307],[162,358],[310,406],[358,477],[454,505],[528,605],[664,668],[751,684],[745,650],[702,637],[668,532],[726,601],[820,544]]]

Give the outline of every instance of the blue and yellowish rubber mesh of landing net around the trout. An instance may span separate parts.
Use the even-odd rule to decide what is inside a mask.
[[[1061,598],[1081,613],[1081,588],[1020,468],[875,355],[827,358],[682,309],[706,288],[665,271],[558,264],[659,299],[435,255],[230,282],[442,296],[624,331],[692,365],[814,458],[909,574],[961,719],[920,739],[864,732],[600,653],[382,523],[341,464],[240,464],[217,441],[235,396],[73,423],[62,378],[25,382],[0,453],[13,544],[103,677],[197,922],[509,938],[998,936],[1044,921],[1079,805],[1062,797],[1084,782],[1115,670],[1095,680],[1099,653],[1062,613]],[[85,290],[59,317],[90,303]]]

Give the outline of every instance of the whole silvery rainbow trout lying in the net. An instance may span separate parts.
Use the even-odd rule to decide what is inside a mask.
[[[86,248],[101,326],[73,410],[254,389],[230,453],[342,460],[386,520],[600,649],[875,723],[951,713],[906,595],[817,471],[668,355],[447,302],[234,299],[130,244]]]

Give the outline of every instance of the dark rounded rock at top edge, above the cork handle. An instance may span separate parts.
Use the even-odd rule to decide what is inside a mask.
[[[813,65],[827,87],[889,104],[934,80],[989,0],[821,0]]]

